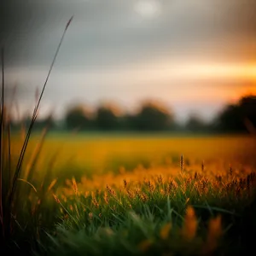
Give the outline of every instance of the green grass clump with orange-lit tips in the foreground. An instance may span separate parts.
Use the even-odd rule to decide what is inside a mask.
[[[234,255],[250,246],[253,172],[244,177],[231,170],[215,177],[154,175],[91,191],[74,179],[68,184],[53,195],[60,221],[48,232],[41,253]]]

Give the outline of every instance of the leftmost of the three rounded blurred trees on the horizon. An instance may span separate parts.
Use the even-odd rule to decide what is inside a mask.
[[[92,126],[92,120],[89,117],[88,111],[81,105],[68,109],[65,120],[69,130],[88,130]]]

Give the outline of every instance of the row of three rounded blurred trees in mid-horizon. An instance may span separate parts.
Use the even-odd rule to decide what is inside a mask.
[[[117,114],[118,111],[117,107],[102,105],[96,108],[95,116],[89,118],[83,107],[70,108],[65,117],[67,128],[82,131],[91,127],[100,131],[169,131],[174,128],[172,112],[154,102],[143,103],[136,114]]]

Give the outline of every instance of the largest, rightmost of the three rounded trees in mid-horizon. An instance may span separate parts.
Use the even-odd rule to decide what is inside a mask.
[[[172,112],[155,102],[144,102],[137,115],[130,119],[133,128],[138,131],[165,131],[174,125]]]

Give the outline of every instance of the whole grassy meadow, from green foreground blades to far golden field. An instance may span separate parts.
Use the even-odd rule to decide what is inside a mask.
[[[237,135],[34,134],[10,247],[35,255],[247,253],[255,232],[254,142]],[[20,134],[11,137],[12,164],[22,143]]]

